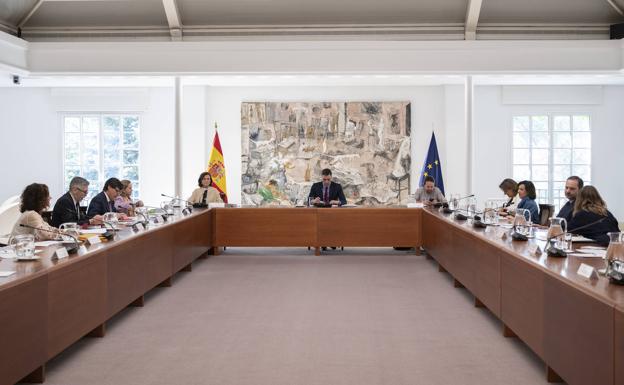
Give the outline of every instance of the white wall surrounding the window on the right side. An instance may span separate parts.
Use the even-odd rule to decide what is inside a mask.
[[[560,92],[580,94],[585,87],[568,86]],[[533,87],[536,94],[550,92],[546,86]],[[586,95],[585,95],[586,96]],[[537,99],[537,98],[535,98]],[[563,99],[563,97],[562,97]],[[596,100],[597,98],[592,98]],[[619,219],[624,218],[624,87],[602,87],[598,104],[503,104],[501,86],[475,87],[475,162],[473,167],[475,193],[479,200],[501,196],[498,184],[512,176],[511,117],[515,114],[589,113],[592,121],[592,184],[595,185],[609,209]]]

